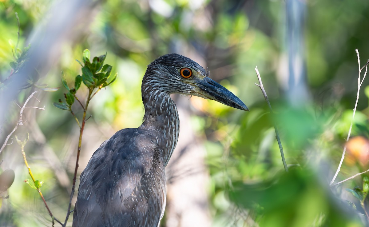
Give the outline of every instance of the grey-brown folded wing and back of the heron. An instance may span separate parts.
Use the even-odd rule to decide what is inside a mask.
[[[109,219],[129,214],[127,198],[152,168],[155,152],[156,138],[137,128],[120,130],[103,142],[80,176],[73,227],[110,226],[107,220],[114,226]]]

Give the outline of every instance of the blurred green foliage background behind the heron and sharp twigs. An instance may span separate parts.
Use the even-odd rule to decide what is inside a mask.
[[[369,1],[0,0],[0,18],[0,145],[17,124],[17,104],[38,90],[40,102],[31,99],[28,106],[45,106],[25,109],[26,122],[0,154],[0,173],[15,172],[13,185],[0,187],[0,195],[9,196],[2,199],[0,226],[51,226],[37,190],[24,183],[30,176],[14,135],[24,140],[27,133],[28,164],[44,181],[41,190],[55,217],[65,219],[79,127],[52,102],[66,92],[61,71],[73,87],[81,73],[75,59],[81,61],[86,48],[91,56],[107,52],[105,63],[118,78],[90,103],[79,174],[104,140],[142,123],[141,80],[146,66],[163,54],[192,58],[250,109],[172,96],[180,137],[166,168],[162,227],[369,225],[365,174],[330,187],[345,145],[336,183],[369,168],[368,80],[345,141],[358,87],[355,49],[361,67],[369,58]],[[28,44],[23,71],[14,73],[12,48],[24,52]],[[255,66],[274,115],[254,85]],[[86,95],[81,86],[77,96]],[[83,112],[77,105],[73,111],[78,117]]]

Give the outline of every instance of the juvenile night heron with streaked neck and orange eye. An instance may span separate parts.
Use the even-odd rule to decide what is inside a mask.
[[[165,166],[179,134],[172,93],[200,96],[248,111],[233,93],[179,54],[153,61],[142,79],[144,123],[115,133],[80,177],[73,227],[156,227],[166,199]]]

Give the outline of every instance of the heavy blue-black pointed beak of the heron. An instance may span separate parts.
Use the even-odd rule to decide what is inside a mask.
[[[237,96],[208,77],[197,80],[196,85],[199,88],[194,93],[196,96],[212,99],[240,110],[249,111],[247,106]]]

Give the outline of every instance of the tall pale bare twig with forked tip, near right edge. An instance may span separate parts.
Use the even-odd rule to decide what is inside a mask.
[[[358,49],[355,49],[356,51],[356,55],[358,56],[358,65],[359,65],[359,75],[358,75],[358,92],[356,94],[356,102],[355,102],[355,107],[354,107],[354,112],[352,113],[352,119],[351,119],[351,124],[350,124],[350,128],[348,130],[348,134],[347,134],[347,138],[346,138],[346,142],[350,139],[350,135],[351,135],[351,130],[352,130],[352,125],[354,124],[354,118],[355,118],[355,113],[356,113],[356,107],[358,106],[358,101],[359,101],[359,94],[360,94],[360,88],[361,88],[361,85],[365,79],[365,76],[366,76],[366,72],[368,71],[368,62],[369,60],[366,62],[365,64],[365,73],[364,73],[364,76],[363,76],[363,79],[361,79],[361,71],[363,70],[363,68],[361,68],[360,66],[360,56],[359,56],[359,51]],[[334,180],[337,178],[337,175],[339,173],[339,171],[341,170],[341,166],[342,166],[342,162],[344,161],[345,159],[345,153],[346,153],[346,148],[347,148],[347,143],[344,147],[344,151],[342,152],[342,157],[341,157],[341,161],[339,162],[339,165],[338,165],[338,168],[337,168],[337,171],[336,173],[334,174],[331,182],[329,183],[329,185],[332,185],[334,183]]]

